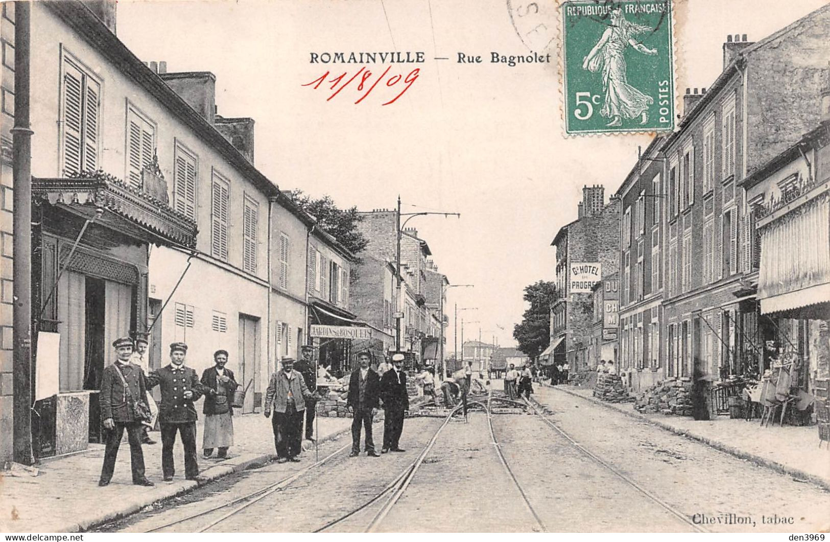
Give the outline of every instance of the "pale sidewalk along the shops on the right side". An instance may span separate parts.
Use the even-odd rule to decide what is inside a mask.
[[[815,426],[760,427],[757,419],[747,422],[718,416],[702,422],[691,417],[641,414],[632,408],[632,403],[605,403],[593,398],[591,388],[567,385],[552,388],[830,490],[830,450],[826,447],[819,449]]]

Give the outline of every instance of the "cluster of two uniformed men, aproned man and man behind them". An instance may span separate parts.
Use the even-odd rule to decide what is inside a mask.
[[[129,337],[115,339],[116,360],[104,369],[101,378],[100,411],[105,430],[104,465],[99,486],[108,486],[115,471],[121,438],[127,432],[133,483],[153,486],[145,475],[142,444],[155,444],[147,430],[154,427],[158,417],[162,441],[162,475],[164,481],[175,476],[173,445],[176,436],[184,448],[184,474],[188,480],[198,480],[199,468],[196,444],[198,414],[194,402],[204,397],[205,427],[204,457],[227,457],[233,445],[233,393],[239,387],[231,369],[227,369],[226,350],[213,354],[214,366],[198,378],[196,370],[185,365],[188,345],[170,344],[170,363],[160,369],[149,370],[147,340],[135,341]],[[159,386],[161,403],[156,406],[150,390]]]

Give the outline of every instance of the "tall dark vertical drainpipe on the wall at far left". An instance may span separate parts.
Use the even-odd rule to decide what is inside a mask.
[[[13,354],[13,457],[32,465],[32,132],[29,122],[29,45],[32,7],[29,2],[14,2],[17,22],[14,27],[14,95],[16,101],[12,128],[14,212],[12,247],[12,338]]]

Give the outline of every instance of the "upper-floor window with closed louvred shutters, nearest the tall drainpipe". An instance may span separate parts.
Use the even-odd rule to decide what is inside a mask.
[[[6,5],[8,2],[4,2]],[[100,82],[81,63],[63,57],[61,167],[64,175],[98,168]]]

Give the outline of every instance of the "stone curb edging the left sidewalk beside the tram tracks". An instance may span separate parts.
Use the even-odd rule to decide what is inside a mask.
[[[344,427],[343,429],[339,429],[325,437],[321,438],[317,441],[318,444],[322,442],[329,442],[340,435],[351,431],[350,427]],[[275,454],[265,453],[265,454],[242,454],[238,457],[232,457],[231,459],[227,459],[216,465],[213,465],[204,471],[199,473],[199,476],[203,476],[206,478],[205,481],[198,483],[196,481],[187,481],[182,480],[178,482],[173,482],[169,486],[166,486],[164,489],[166,491],[162,491],[160,493],[153,492],[150,495],[142,496],[144,498],[139,497],[137,500],[133,500],[132,502],[125,503],[119,510],[110,510],[107,512],[101,512],[99,515],[96,515],[90,519],[80,520],[77,523],[73,523],[71,525],[66,525],[61,529],[56,529],[51,532],[55,533],[77,533],[81,531],[88,531],[91,528],[95,527],[96,525],[101,525],[113,520],[119,520],[120,518],[126,517],[128,515],[134,514],[139,510],[143,509],[145,506],[152,505],[156,502],[161,502],[163,500],[172,499],[173,497],[183,495],[185,493],[189,493],[190,491],[195,490],[199,486],[207,486],[207,484],[211,483],[212,481],[216,481],[219,478],[227,476],[229,474],[233,474],[234,472],[241,472],[245,471],[246,469],[250,468],[251,466],[259,466],[260,464],[265,464],[268,461],[271,461],[271,458],[275,457]],[[166,482],[163,482],[166,483]]]

